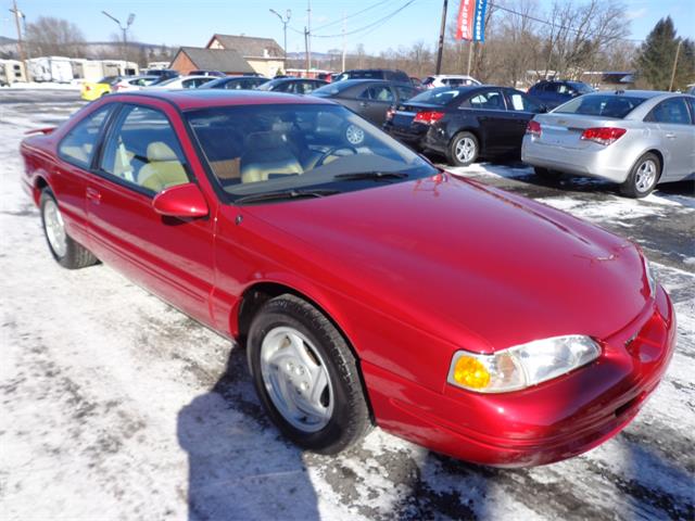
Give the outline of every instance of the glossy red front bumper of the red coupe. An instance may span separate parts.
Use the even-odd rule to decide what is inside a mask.
[[[666,292],[621,331],[601,341],[589,366],[519,392],[478,394],[451,385],[435,393],[364,363],[377,423],[459,459],[530,467],[582,454],[622,430],[658,385],[675,346]]]

